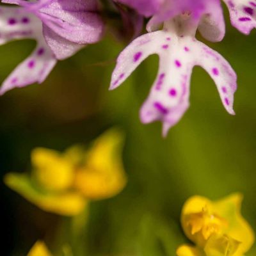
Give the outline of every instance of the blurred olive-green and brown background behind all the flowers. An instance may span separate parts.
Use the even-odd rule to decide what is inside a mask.
[[[191,108],[166,139],[160,123],[142,125],[138,118],[156,76],[157,57],[148,58],[109,92],[115,58],[124,48],[111,35],[60,61],[45,83],[0,98],[1,177],[29,170],[35,147],[64,150],[117,125],[127,134],[124,164],[129,178],[120,195],[93,202],[88,222],[76,231],[72,227],[77,220],[42,212],[2,182],[3,255],[26,255],[38,239],[45,239],[56,255],[60,244],[70,244],[65,251],[74,256],[175,255],[186,241],[180,209],[197,194],[215,200],[240,191],[243,215],[256,230],[256,33],[244,36],[228,26],[223,42],[207,44],[237,72],[236,116],[221,106],[211,78],[195,68]],[[1,81],[33,47],[30,41],[0,47]],[[255,253],[256,246],[248,255]]]

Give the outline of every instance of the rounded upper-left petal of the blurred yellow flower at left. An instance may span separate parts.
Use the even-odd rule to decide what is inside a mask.
[[[69,188],[74,180],[74,166],[55,150],[35,148],[31,153],[33,175],[45,190],[61,191]]]

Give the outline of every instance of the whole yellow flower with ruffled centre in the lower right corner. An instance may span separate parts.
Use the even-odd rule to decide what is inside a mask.
[[[216,202],[192,196],[182,209],[181,224],[195,246],[183,244],[178,256],[243,256],[254,242],[254,232],[241,216],[243,196],[232,194]]]

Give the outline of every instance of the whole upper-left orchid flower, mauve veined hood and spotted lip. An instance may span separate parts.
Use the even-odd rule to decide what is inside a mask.
[[[0,94],[15,87],[42,83],[57,60],[98,42],[103,23],[95,0],[3,0],[22,7],[1,7],[0,44],[15,39],[36,40],[36,49],[3,82]]]

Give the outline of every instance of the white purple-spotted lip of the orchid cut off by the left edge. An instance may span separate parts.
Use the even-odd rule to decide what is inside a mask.
[[[56,57],[42,35],[42,22],[20,7],[0,8],[0,45],[17,39],[33,39],[37,44],[34,51],[22,61],[4,80],[0,94],[15,87],[42,83],[56,65]]]

